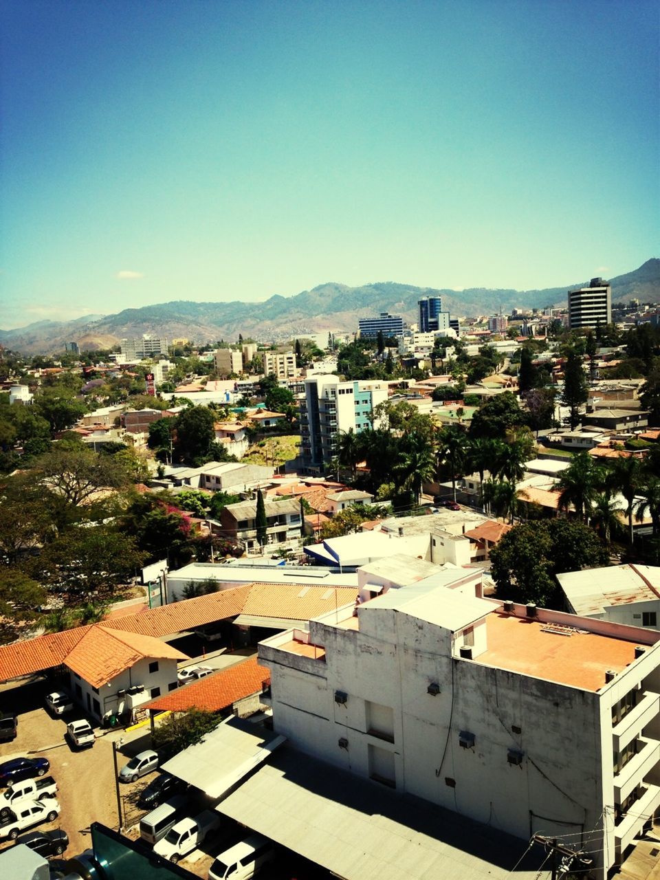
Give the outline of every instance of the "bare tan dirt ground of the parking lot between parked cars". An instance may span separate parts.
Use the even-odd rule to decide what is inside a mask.
[[[98,738],[91,749],[72,751],[64,740],[66,722],[81,717],[82,713],[74,709],[64,719],[52,717],[43,702],[44,694],[51,689],[43,679],[0,687],[0,708],[18,714],[18,736],[11,743],[0,743],[0,760],[37,755],[48,758],[49,774],[57,782],[57,798],[62,811],[53,825],[39,825],[30,830],[62,828],[70,840],[67,854],[77,855],[91,845],[89,829],[92,822],[117,828],[111,737],[117,738],[119,734],[105,735],[97,727]],[[120,767],[126,763],[132,751],[128,746],[126,756],[117,756]],[[152,777],[153,774],[150,774],[135,784],[121,785],[122,803],[125,801],[129,819],[140,815],[130,804],[132,792],[142,788]]]

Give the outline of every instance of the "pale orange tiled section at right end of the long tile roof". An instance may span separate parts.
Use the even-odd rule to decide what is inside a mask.
[[[356,587],[310,587],[299,583],[253,583],[243,613],[253,617],[311,620],[356,601]]]

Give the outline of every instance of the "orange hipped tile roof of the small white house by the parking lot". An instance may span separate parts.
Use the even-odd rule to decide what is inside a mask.
[[[65,663],[92,687],[100,687],[144,657],[187,660],[185,654],[150,635],[97,625],[77,642]]]

